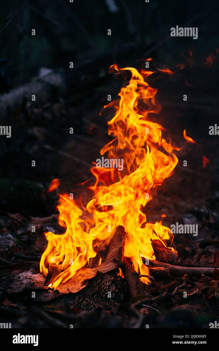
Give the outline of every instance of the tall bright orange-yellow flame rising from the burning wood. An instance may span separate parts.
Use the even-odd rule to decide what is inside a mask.
[[[95,259],[96,266],[100,264],[98,255],[106,250],[118,225],[126,229],[124,256],[139,274],[149,274],[142,258],[155,259],[151,239],[173,241],[171,230],[161,221],[147,221],[145,206],[156,188],[173,174],[178,163],[173,150],[179,149],[162,137],[164,128],[152,121],[152,114],[161,110],[155,99],[157,89],[135,68],[113,65],[109,71],[114,70],[117,75],[131,72],[131,79],[118,94],[119,105],[108,105],[115,108],[108,122],[113,140],[100,153],[108,153],[108,159],[123,159],[124,167],[91,168],[96,182],[89,187],[93,198],[86,207],[69,199],[69,194],[59,196],[59,224],[65,233],[45,233],[48,245],[40,261],[40,270],[45,276],[49,273],[47,284],[53,288]],[[148,282],[146,277],[140,279]]]

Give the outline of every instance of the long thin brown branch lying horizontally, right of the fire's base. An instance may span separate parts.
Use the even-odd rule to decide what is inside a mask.
[[[199,277],[201,273],[204,273],[206,276],[211,277],[214,271],[214,267],[182,267],[182,266],[176,266],[168,263],[151,261],[151,260],[149,260],[149,263],[151,266],[153,266],[153,267],[147,266],[152,276],[155,275],[154,272],[156,271],[156,268],[154,267],[163,267],[165,270],[167,270],[167,274],[170,274],[174,277],[179,277],[179,278],[183,277],[184,274],[188,274],[189,276],[193,276],[193,277]]]

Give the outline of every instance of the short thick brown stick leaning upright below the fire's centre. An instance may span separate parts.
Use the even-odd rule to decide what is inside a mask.
[[[122,273],[124,274],[125,280],[128,284],[131,298],[136,299],[145,296],[143,286],[141,285],[139,275],[135,272],[132,264],[125,260]]]

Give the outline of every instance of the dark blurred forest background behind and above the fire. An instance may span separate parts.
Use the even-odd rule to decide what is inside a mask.
[[[62,191],[70,192],[91,177],[92,161],[111,140],[107,120],[113,112],[99,113],[107,95],[117,99],[123,84],[108,73],[110,65],[142,68],[152,57],[156,67],[174,70],[188,62],[190,52],[192,68],[151,79],[150,84],[158,88],[162,105],[158,121],[173,141],[183,141],[184,129],[197,141],[183,151],[192,150],[188,169],[193,180],[186,184],[191,187],[187,193],[192,190],[195,197],[195,186],[200,192],[203,155],[211,165],[200,178],[205,182],[202,191],[209,194],[212,178],[217,188],[218,139],[208,134],[208,127],[217,123],[218,8],[216,0],[2,2],[0,125],[11,125],[12,137],[0,137],[0,212],[45,215],[52,210],[42,204],[41,193],[52,179],[60,178]],[[170,28],[176,25],[198,27],[198,39],[172,38]],[[212,62],[204,65],[209,56]]]

